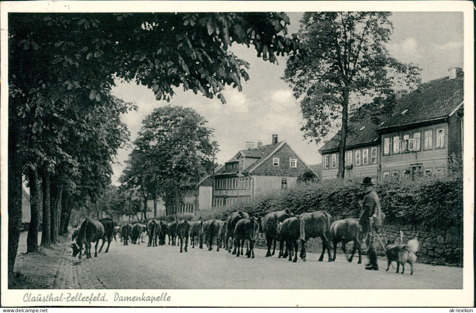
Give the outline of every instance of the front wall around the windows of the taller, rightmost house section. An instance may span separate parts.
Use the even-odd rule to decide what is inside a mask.
[[[445,129],[445,147],[436,148],[436,129],[444,128]],[[426,150],[425,145],[425,131],[432,130],[432,148]],[[420,150],[419,151],[409,151],[393,154],[393,137],[402,136],[404,134],[410,134],[410,138],[413,137],[413,134],[416,132],[421,133],[420,140]],[[390,154],[384,155],[384,145],[385,138],[390,138]],[[425,173],[425,170],[431,170],[432,175],[436,173],[437,169],[443,168],[446,170],[448,166],[448,124],[439,123],[427,127],[414,128],[408,131],[398,131],[394,133],[383,134],[381,136],[381,178],[383,178],[388,173],[388,176],[393,176],[394,172],[398,173],[398,176],[402,176],[403,171],[412,171],[412,166],[422,166],[422,171]],[[401,149],[400,149],[401,150]]]

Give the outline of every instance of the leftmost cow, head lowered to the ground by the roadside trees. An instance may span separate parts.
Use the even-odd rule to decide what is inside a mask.
[[[76,242],[71,244],[71,248],[73,248],[73,256],[76,257],[76,255],[79,254],[78,258],[81,259],[83,245],[86,245],[86,258],[91,258],[91,243],[95,242],[96,245],[94,247],[94,257],[97,257],[99,239],[102,239],[103,236],[104,226],[101,224],[101,222],[87,217],[83,224],[81,224]]]

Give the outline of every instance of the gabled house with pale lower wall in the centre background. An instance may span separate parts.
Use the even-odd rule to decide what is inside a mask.
[[[279,193],[296,185],[297,176],[311,170],[286,141],[278,142],[273,135],[270,145],[257,147],[247,143],[214,175],[213,206],[232,205],[237,201],[252,201],[260,194]]]

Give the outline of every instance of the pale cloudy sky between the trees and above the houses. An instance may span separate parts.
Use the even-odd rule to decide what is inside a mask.
[[[302,13],[288,13],[291,20],[289,33],[299,29]],[[414,63],[422,68],[423,82],[447,76],[448,68],[463,67],[463,14],[459,12],[395,12],[390,20],[394,31],[387,48],[392,56],[405,63]],[[286,140],[308,165],[320,163],[317,146],[308,143],[300,131],[304,123],[299,103],[292,96],[289,86],[280,79],[286,68],[286,58],[278,57],[279,64],[271,64],[256,57],[253,49],[234,45],[232,51],[250,63],[250,79],[243,82],[243,91],[231,88],[224,91],[226,104],[218,98],[208,99],[188,90],[176,88],[177,94],[170,101],[172,106],[194,108],[214,128],[214,140],[220,152],[218,163],[228,161],[245,142],[262,140],[271,142],[271,135],[278,134]],[[128,102],[135,102],[138,111],[122,117],[131,132],[132,140],[137,136],[142,120],[154,108],[168,105],[157,101],[152,90],[135,84],[120,84],[113,89],[114,95]],[[113,184],[124,168],[129,149],[121,149],[118,164],[113,165]]]

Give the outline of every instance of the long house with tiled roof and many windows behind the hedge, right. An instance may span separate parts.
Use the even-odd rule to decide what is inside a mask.
[[[451,157],[463,151],[463,85],[461,68],[450,68],[449,76],[398,98],[392,115],[379,125],[370,118],[351,122],[345,177],[413,179],[444,173]],[[337,176],[338,140],[336,135],[319,149],[323,179]]]

